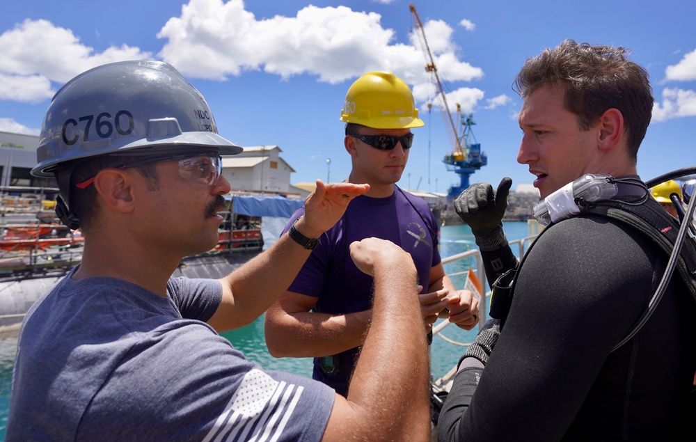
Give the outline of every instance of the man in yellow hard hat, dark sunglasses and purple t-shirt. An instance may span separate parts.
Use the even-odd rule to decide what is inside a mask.
[[[411,254],[427,331],[441,313],[473,329],[478,301],[468,291],[455,290],[445,274],[438,223],[425,200],[395,185],[409,158],[411,129],[423,125],[409,86],[391,72],[367,72],[349,88],[340,120],[346,123],[343,142],[352,162],[346,181],[365,182],[370,190],[319,238],[285,296],[267,311],[265,331],[271,354],[314,357],[314,379],[346,395],[372,315],[372,282],[348,257],[352,241],[389,239]],[[287,228],[302,215],[300,209]]]

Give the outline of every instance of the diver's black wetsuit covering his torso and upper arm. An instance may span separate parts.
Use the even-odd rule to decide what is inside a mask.
[[[487,270],[501,256],[509,267],[511,253],[484,253]],[[686,413],[696,304],[679,276],[638,335],[611,352],[666,262],[647,236],[603,216],[550,226],[519,270],[485,370],[457,374],[439,440],[683,440],[695,418]]]

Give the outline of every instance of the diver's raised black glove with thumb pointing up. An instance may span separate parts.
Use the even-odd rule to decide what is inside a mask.
[[[512,180],[504,177],[493,191],[491,184],[471,184],[454,200],[454,210],[468,224],[476,244],[482,251],[491,251],[507,244],[503,232],[503,215],[507,209],[507,194]]]

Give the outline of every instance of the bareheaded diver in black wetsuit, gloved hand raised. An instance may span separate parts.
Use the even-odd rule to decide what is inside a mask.
[[[523,66],[518,161],[537,176],[542,198],[585,173],[606,173],[623,181],[615,198],[646,199],[647,188],[634,185],[635,158],[653,99],[647,73],[625,53],[567,40]],[[491,278],[517,266],[500,223],[510,184],[504,179],[496,191],[474,184],[455,202]],[[649,237],[606,216],[548,226],[517,270],[502,331],[489,321],[461,359],[438,439],[693,437],[696,305],[681,278],[672,278],[638,334],[612,352],[644,313],[666,262]]]

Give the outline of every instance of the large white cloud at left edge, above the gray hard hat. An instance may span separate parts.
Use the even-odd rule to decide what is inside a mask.
[[[40,102],[55,93],[52,81],[63,84],[97,65],[149,56],[125,45],[95,54],[69,29],[26,19],[0,35],[0,98]]]

